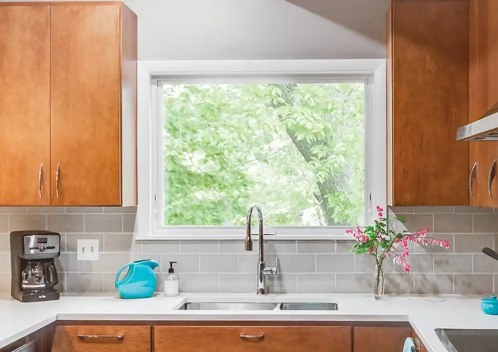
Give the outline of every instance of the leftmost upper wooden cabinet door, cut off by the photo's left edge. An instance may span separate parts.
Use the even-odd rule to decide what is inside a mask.
[[[0,5],[0,205],[50,205],[49,7]]]

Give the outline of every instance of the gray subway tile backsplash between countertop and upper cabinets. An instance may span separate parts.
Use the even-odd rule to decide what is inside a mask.
[[[116,272],[133,260],[153,259],[157,290],[161,291],[169,261],[175,264],[180,289],[191,292],[253,292],[256,287],[257,238],[246,252],[244,239],[229,241],[135,241],[136,207],[0,207],[0,234],[13,230],[50,229],[61,233],[59,279],[66,291],[115,291]],[[451,247],[414,246],[410,243],[410,274],[384,262],[386,293],[489,293],[498,262],[480,253],[498,248],[498,213],[475,207],[393,207],[406,219],[396,230],[418,231],[449,240]],[[439,231],[439,232],[438,232]],[[435,234],[432,234],[436,232]],[[78,262],[76,240],[97,238],[100,261]],[[267,276],[269,292],[372,292],[371,257],[347,251],[354,240],[286,240],[267,237],[264,259],[279,274]],[[496,245],[495,245],[496,243]],[[8,249],[0,253],[0,290],[10,286]],[[399,249],[398,251],[399,252]],[[498,278],[498,276],[497,276]],[[495,280],[498,282],[498,279]],[[498,290],[498,284],[496,289]]]

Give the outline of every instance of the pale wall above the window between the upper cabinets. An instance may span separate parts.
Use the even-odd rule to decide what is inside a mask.
[[[124,2],[138,15],[139,60],[385,57],[386,0]]]

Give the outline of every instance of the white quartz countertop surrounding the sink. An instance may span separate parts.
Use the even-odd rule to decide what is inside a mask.
[[[498,316],[481,311],[482,296],[372,294],[182,293],[124,300],[117,295],[65,295],[58,301],[21,303],[0,297],[0,348],[56,320],[252,320],[409,322],[429,352],[446,352],[434,329],[498,329]],[[333,302],[337,311],[178,311],[185,302]]]

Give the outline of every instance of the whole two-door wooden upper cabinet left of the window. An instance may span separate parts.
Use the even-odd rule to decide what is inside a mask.
[[[0,205],[136,205],[136,34],[121,1],[0,4]]]

